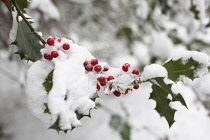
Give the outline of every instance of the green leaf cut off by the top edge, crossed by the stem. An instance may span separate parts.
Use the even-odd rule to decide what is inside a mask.
[[[29,1],[28,0],[10,0],[9,2],[5,3],[6,7],[10,12],[12,12],[11,6],[12,1],[15,1],[22,12],[24,12],[25,8],[28,8]]]

